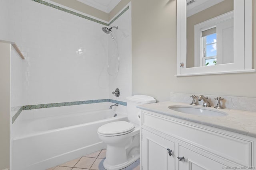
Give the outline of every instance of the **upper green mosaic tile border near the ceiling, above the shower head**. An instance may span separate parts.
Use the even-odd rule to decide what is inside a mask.
[[[109,23],[105,23],[105,22],[102,22],[102,21],[99,21],[99,20],[96,20],[94,18],[91,18],[91,17],[88,17],[88,16],[85,16],[85,15],[82,15],[82,14],[79,14],[77,12],[74,12],[74,11],[71,11],[71,10],[68,10],[66,8],[62,8],[60,6],[56,6],[54,4],[51,4],[49,2],[45,2],[43,0],[32,0],[34,2],[38,2],[40,4],[43,4],[43,5],[46,5],[46,6],[49,6],[49,7],[52,7],[52,8],[55,8],[57,10],[61,10],[63,12],[67,12],[69,14],[72,14],[72,15],[75,15],[75,16],[78,16],[78,17],[81,17],[81,18],[84,18],[86,20],[90,20],[90,21],[94,21],[96,23],[100,23],[102,25],[106,25],[106,26],[109,26],[110,24],[112,24],[116,19],[118,19],[122,14],[124,14],[124,12],[126,12],[128,9],[129,9],[129,6],[127,6],[120,14],[118,14],[118,16],[116,16],[112,21],[110,21]]]

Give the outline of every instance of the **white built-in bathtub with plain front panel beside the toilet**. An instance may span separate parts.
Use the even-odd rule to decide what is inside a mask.
[[[114,109],[20,119],[12,138],[12,170],[45,170],[104,149],[98,127],[127,120]]]

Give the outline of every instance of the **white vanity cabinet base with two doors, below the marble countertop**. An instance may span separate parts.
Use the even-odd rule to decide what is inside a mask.
[[[253,137],[146,110],[141,123],[142,170],[255,169]]]

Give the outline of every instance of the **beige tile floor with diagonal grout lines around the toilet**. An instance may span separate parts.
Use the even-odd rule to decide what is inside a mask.
[[[106,150],[102,149],[47,170],[106,170],[103,167],[105,158]],[[140,159],[122,170],[140,170]]]

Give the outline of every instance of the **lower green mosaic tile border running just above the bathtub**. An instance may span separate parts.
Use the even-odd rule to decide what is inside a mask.
[[[32,109],[42,109],[42,108],[50,108],[50,107],[62,107],[62,106],[74,106],[80,104],[94,104],[94,103],[102,103],[102,102],[111,102],[111,103],[118,103],[123,106],[127,106],[126,102],[121,102],[118,100],[112,99],[100,99],[100,100],[85,100],[85,101],[78,101],[78,102],[62,102],[62,103],[51,103],[51,104],[36,104],[36,105],[26,105],[20,107],[20,109],[15,113],[12,117],[12,123],[18,118],[22,110],[32,110]]]

